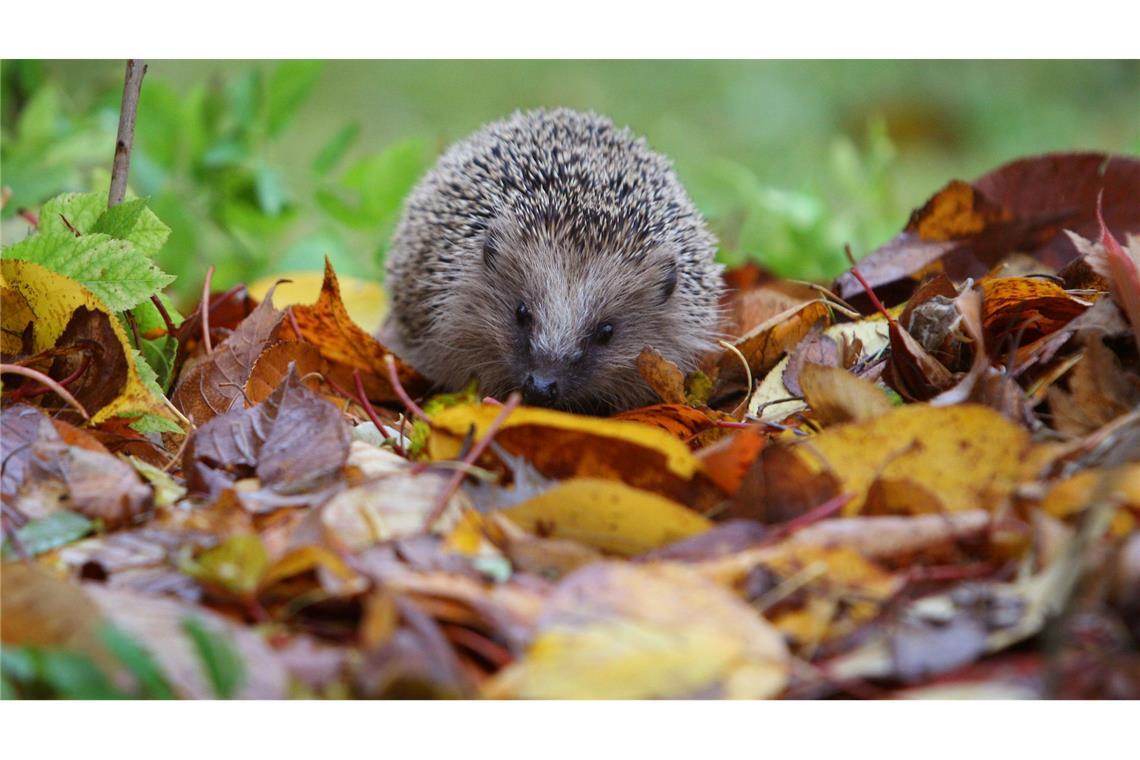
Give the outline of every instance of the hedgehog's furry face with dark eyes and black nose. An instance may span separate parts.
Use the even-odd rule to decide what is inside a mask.
[[[499,395],[519,390],[530,406],[595,414],[650,401],[637,357],[670,343],[675,256],[654,250],[622,260],[568,247],[484,242],[479,288],[497,318],[475,371],[481,386]]]

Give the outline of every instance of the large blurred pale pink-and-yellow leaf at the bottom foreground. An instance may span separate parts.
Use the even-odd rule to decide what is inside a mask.
[[[568,577],[526,656],[486,687],[513,698],[764,698],[788,649],[728,590],[674,564],[604,562]]]

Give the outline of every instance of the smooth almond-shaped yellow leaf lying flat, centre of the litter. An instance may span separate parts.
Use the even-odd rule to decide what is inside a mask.
[[[703,533],[708,518],[675,501],[619,481],[579,477],[503,512],[540,536],[634,556]]]

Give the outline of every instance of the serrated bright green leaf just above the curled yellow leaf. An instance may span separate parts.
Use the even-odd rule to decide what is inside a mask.
[[[137,307],[174,281],[132,243],[98,232],[40,232],[5,248],[3,258],[33,261],[70,277],[112,311]]]

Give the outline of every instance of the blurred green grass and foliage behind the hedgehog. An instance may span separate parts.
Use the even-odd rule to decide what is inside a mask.
[[[16,212],[106,186],[122,62],[3,62]],[[824,279],[952,178],[1047,150],[1140,153],[1138,62],[152,60],[131,189],[173,228],[188,297],[285,270],[381,277],[439,150],[515,108],[609,114],[671,156],[727,263]]]

